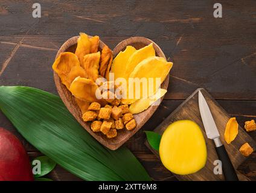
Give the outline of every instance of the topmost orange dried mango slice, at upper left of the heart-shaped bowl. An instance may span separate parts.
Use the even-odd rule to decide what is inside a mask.
[[[80,33],[80,37],[77,39],[77,49],[75,49],[75,55],[77,55],[78,60],[83,67],[83,57],[89,54],[91,51],[91,41],[85,33]]]

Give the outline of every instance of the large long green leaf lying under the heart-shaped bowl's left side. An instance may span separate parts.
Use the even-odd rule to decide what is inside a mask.
[[[82,179],[150,180],[127,148],[104,148],[56,95],[32,87],[0,86],[0,109],[30,144]]]

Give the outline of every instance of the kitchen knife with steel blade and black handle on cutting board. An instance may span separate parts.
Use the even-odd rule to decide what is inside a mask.
[[[200,90],[198,93],[198,102],[200,115],[203,121],[203,127],[205,127],[206,136],[207,138],[213,139],[214,141],[217,155],[222,161],[222,171],[225,179],[227,181],[238,181],[234,166],[232,165],[232,162],[228,157],[228,153],[226,152],[224,145],[220,141],[220,134],[213,119],[213,115],[211,115],[208,104]]]

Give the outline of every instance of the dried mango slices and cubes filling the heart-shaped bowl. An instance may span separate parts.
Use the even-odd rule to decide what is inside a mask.
[[[108,46],[99,51],[99,43],[98,36],[80,33],[75,53],[62,52],[55,60],[53,70],[74,96],[83,121],[91,123],[92,131],[115,138],[117,130],[133,130],[136,127],[133,114],[146,110],[167,91],[159,85],[147,98],[120,98],[115,93],[120,86],[116,85],[117,78],[153,76],[160,78],[162,83],[173,63],[156,57],[152,43],[138,50],[127,46],[114,60]],[[114,80],[110,80],[110,72],[114,74]],[[100,84],[99,78],[104,79]],[[103,87],[101,98],[96,94],[99,87]]]

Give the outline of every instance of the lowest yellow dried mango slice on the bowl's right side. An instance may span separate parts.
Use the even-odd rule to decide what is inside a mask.
[[[135,103],[132,103],[129,107],[130,113],[137,114],[140,113],[147,108],[149,108],[155,101],[157,101],[159,98],[164,96],[164,94],[167,92],[165,89],[158,89],[158,91],[153,96],[149,96],[148,98],[141,98]]]

